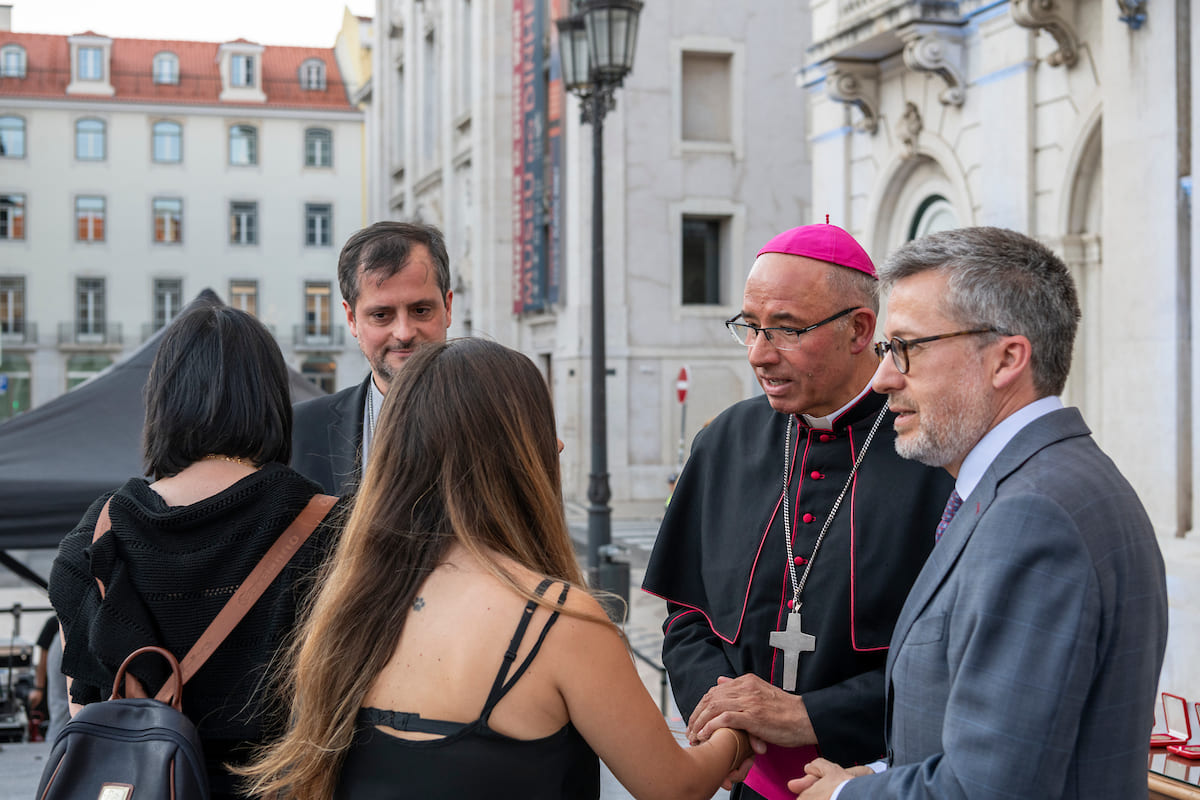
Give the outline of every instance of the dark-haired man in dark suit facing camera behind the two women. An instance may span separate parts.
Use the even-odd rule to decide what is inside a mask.
[[[392,377],[425,342],[450,326],[450,259],[433,225],[377,222],[350,236],[337,259],[350,333],[371,365],[358,386],[299,403],[292,467],[329,494],[353,491]]]

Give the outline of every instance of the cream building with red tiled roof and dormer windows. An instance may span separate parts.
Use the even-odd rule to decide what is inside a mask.
[[[334,50],[14,32],[0,11],[0,420],[204,288],[316,383],[361,375],[335,265],[362,224],[362,113]]]

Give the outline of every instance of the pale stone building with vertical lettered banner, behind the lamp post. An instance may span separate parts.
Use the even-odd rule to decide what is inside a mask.
[[[566,0],[379,0],[370,215],[448,236],[451,335],[529,354],[558,409],[569,500],[590,431],[592,128],[563,92]],[[722,323],[757,247],[810,222],[808,12],[791,0],[654,0],[604,121],[608,469],[613,506],[661,507],[708,419],[758,391]],[[688,366],[688,408],[676,380]],[[685,416],[685,420],[683,419]]]

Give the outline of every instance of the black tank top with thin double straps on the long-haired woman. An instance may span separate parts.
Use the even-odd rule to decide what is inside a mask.
[[[550,587],[542,581],[540,597]],[[568,587],[558,597],[562,606]],[[512,739],[488,727],[488,717],[533,662],[558,612],[551,614],[538,642],[512,676],[504,676],[516,660],[536,603],[526,603],[521,622],[504,654],[484,710],[474,722],[422,720],[420,715],[383,709],[360,709],[354,741],[338,777],[335,800],[437,800],[454,798],[522,798],[522,800],[596,800],[600,762],[575,726],[542,739]],[[425,741],[400,739],[376,726],[443,736]]]

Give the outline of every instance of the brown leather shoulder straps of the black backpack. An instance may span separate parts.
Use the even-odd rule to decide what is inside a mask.
[[[98,541],[113,527],[112,519],[108,516],[108,506],[112,501],[112,498],[106,500],[104,506],[100,510],[100,517],[96,519],[96,533],[91,537],[92,542]],[[182,685],[204,666],[204,662],[224,642],[226,637],[229,636],[242,616],[246,615],[246,612],[258,602],[258,599],[263,596],[263,593],[271,585],[271,582],[283,571],[283,567],[287,566],[292,557],[300,549],[300,546],[308,540],[308,536],[317,529],[320,521],[329,515],[335,503],[337,503],[337,498],[329,494],[312,495],[308,505],[280,534],[280,537],[275,540],[275,543],[271,545],[270,549],[266,551],[251,573],[246,576],[246,579],[241,582],[241,585],[238,587],[238,590],[226,602],[224,607],[221,608],[221,612],[204,628],[204,633],[196,640],[192,649],[187,651],[184,660],[179,662],[182,679],[178,682],[168,680],[163,684],[158,694],[155,696],[155,699],[163,703],[175,699],[176,694],[182,691]],[[103,600],[104,583],[100,578],[96,578],[96,583],[100,585],[100,596]],[[144,696],[144,691],[139,692],[140,686],[136,678],[132,675],[126,675],[125,678],[127,694]],[[131,680],[133,681],[132,685],[130,684]]]

